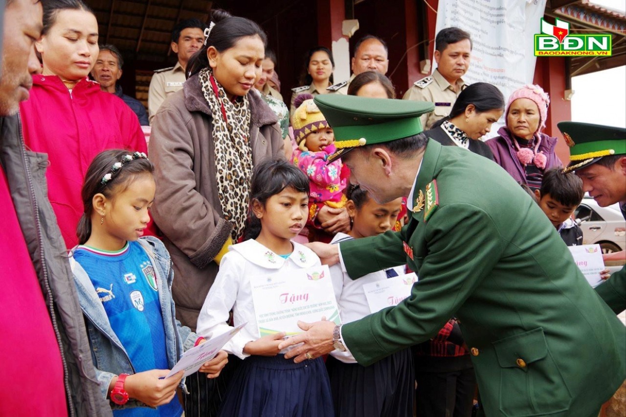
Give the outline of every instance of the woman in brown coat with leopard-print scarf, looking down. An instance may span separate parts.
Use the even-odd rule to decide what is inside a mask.
[[[188,63],[183,89],[156,112],[150,139],[152,214],[172,255],[177,318],[192,329],[222,255],[244,232],[252,168],[284,158],[276,115],[259,95],[249,94],[261,73],[264,31],[214,10],[205,42]],[[192,395],[185,415],[217,413],[222,376],[207,384],[204,375],[193,374],[187,381]],[[220,389],[212,391],[211,381]]]

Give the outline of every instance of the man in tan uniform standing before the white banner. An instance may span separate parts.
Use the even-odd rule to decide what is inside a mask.
[[[430,129],[441,118],[448,116],[454,101],[465,88],[461,78],[469,68],[471,58],[469,33],[459,28],[445,28],[435,38],[433,75],[415,81],[403,100],[431,101],[434,110],[420,116],[424,130]]]

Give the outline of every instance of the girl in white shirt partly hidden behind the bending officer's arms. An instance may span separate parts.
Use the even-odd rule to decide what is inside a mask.
[[[376,203],[367,191],[351,185],[347,193],[347,212],[352,229],[338,233],[331,243],[374,236],[391,230],[398,219],[402,198],[386,204]],[[342,323],[362,319],[371,313],[364,284],[403,275],[404,267],[372,272],[356,280],[342,270],[330,267],[332,284]],[[413,416],[415,378],[411,349],[403,349],[371,366],[359,365],[349,351],[332,351],[326,360],[336,416]]]

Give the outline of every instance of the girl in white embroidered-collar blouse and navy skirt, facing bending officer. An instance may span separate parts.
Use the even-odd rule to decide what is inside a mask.
[[[210,338],[248,324],[224,350],[244,359],[220,409],[222,416],[334,416],[321,358],[299,364],[278,345],[285,333],[260,337],[250,277],[284,274],[320,265],[312,250],[292,242],[307,222],[309,179],[284,160],[260,163],[252,175],[244,242],[232,245],[198,317],[197,332]]]

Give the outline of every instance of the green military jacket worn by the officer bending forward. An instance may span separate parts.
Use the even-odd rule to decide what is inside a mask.
[[[413,203],[401,232],[340,244],[351,277],[405,263],[419,277],[398,306],[344,324],[354,358],[374,363],[456,316],[486,415],[596,416],[626,378],[626,329],[538,205],[495,163],[433,140]]]

